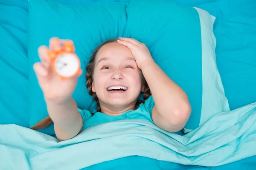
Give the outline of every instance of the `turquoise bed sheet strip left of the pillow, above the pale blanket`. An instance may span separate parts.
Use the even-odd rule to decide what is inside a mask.
[[[0,124],[29,127],[27,0],[0,0]]]

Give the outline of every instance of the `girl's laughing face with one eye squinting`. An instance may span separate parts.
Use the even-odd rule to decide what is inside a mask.
[[[129,48],[112,42],[99,49],[92,91],[101,106],[116,111],[131,107],[136,104],[142,88],[142,72]]]

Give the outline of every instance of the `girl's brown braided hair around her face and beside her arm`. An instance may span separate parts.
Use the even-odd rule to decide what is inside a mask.
[[[96,100],[97,102],[97,112],[101,111],[100,105],[99,105],[99,99],[96,95],[96,93],[94,93],[92,91],[92,83],[93,83],[93,71],[94,71],[94,65],[95,65],[95,59],[96,56],[98,54],[98,51],[100,48],[102,48],[102,46],[108,44],[108,43],[112,43],[112,42],[117,42],[117,39],[111,39],[111,40],[107,40],[105,42],[102,42],[102,44],[100,44],[94,51],[93,54],[91,55],[91,59],[87,65],[87,72],[85,74],[85,77],[87,79],[86,81],[86,87],[88,88],[88,92],[91,96],[93,96],[93,99]],[[143,94],[143,100],[142,101],[138,101],[137,102],[137,106],[140,105],[141,103],[144,103],[146,99],[148,99],[149,96],[151,96],[151,91],[148,87],[147,82],[145,81],[145,78],[143,77],[143,84],[144,84],[144,94]],[[49,125],[52,124],[52,119],[47,116],[46,118],[42,119],[41,121],[39,121],[36,125],[32,126],[31,128],[34,130],[38,130],[38,129],[43,129],[48,127]]]

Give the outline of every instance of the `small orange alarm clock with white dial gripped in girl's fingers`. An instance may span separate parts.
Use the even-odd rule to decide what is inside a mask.
[[[55,40],[49,49],[48,55],[52,62],[52,70],[62,80],[81,75],[80,59],[75,54],[72,40]]]

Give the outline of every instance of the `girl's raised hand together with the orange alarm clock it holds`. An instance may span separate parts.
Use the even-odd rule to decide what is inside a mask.
[[[73,42],[53,37],[49,40],[49,49],[41,45],[38,54],[41,62],[36,62],[33,68],[44,98],[58,103],[69,100],[82,73]]]

